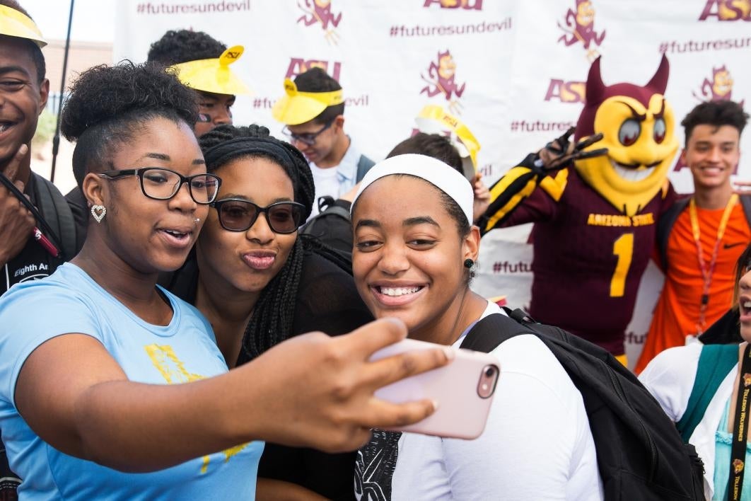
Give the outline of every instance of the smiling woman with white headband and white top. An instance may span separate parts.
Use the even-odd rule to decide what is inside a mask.
[[[480,243],[472,201],[461,174],[424,155],[397,155],[366,174],[352,205],[352,267],[376,318],[458,347],[476,321],[502,312],[469,289]],[[533,335],[492,353],[501,371],[484,433],[376,430],[358,452],[359,499],[602,499],[584,403],[566,371]]]

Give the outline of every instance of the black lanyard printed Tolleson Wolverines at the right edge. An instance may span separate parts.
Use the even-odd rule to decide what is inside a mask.
[[[743,473],[746,463],[746,436],[748,435],[749,394],[751,394],[751,345],[743,350],[743,359],[738,370],[738,395],[735,400],[735,421],[733,422],[733,444],[730,453],[730,478],[728,499],[740,501],[743,490]]]

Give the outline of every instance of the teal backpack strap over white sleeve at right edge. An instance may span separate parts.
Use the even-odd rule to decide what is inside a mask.
[[[707,406],[709,406],[717,388],[737,362],[737,345],[705,345],[701,347],[701,355],[699,355],[698,367],[696,368],[696,379],[693,388],[691,388],[686,412],[683,412],[683,417],[675,424],[683,442],[689,442],[689,438],[701,419],[704,418],[704,412],[707,411]]]

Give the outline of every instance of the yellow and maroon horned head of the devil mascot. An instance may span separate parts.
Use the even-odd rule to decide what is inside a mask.
[[[665,185],[678,149],[675,117],[665,101],[668,59],[644,87],[605,86],[597,59],[587,77],[587,98],[576,126],[581,139],[602,132],[587,149],[608,148],[608,155],[579,160],[581,177],[618,210],[638,213]]]

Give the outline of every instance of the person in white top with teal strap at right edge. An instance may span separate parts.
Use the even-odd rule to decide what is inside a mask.
[[[739,494],[729,499],[751,496],[751,475],[739,475],[749,457],[748,434],[745,431],[744,439],[737,426],[740,423],[743,429],[742,423],[748,422],[742,412],[749,406],[748,394],[744,400],[744,392],[739,395],[738,388],[739,374],[743,375],[743,388],[749,386],[751,374],[751,246],[746,247],[735,266],[734,312],[710,330],[724,324],[727,332],[718,337],[734,340],[740,333],[741,343],[692,343],[667,349],[639,375],[668,417],[678,424],[683,439],[693,444],[704,460],[707,499],[728,499],[728,486],[735,485]],[[740,325],[728,321],[732,316],[740,316]],[[698,402],[703,402],[703,406]],[[738,451],[731,449],[736,442],[743,445]],[[740,469],[735,467],[738,461]]]

